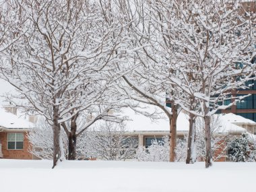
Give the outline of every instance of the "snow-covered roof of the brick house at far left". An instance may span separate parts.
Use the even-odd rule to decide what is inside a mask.
[[[17,115],[7,113],[3,108],[0,108],[0,127],[5,129],[31,129],[34,127],[34,123],[30,123]]]

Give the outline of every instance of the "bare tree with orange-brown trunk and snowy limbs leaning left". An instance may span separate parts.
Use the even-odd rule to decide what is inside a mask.
[[[125,51],[128,54],[123,56],[126,57],[126,60],[117,63],[119,71],[122,72],[123,69],[126,69],[123,73],[124,81],[120,84],[120,88],[130,99],[160,108],[170,119],[170,161],[174,161],[174,148],[177,139],[176,121],[180,110],[169,95],[168,102],[171,103],[171,108],[166,106],[166,92],[168,90],[163,85],[162,76],[159,73],[156,75],[154,72],[156,55],[154,55],[150,44],[153,41],[158,43],[156,40],[158,34],[154,34],[156,30],[152,30],[152,21],[150,21],[149,16],[150,6],[146,1],[141,0],[125,1],[122,7],[122,13],[133,23],[127,28],[127,33],[131,33],[132,36],[127,42]],[[134,106],[131,107],[134,108]],[[151,115],[153,118],[154,115]],[[150,117],[150,114],[148,113],[147,116]]]

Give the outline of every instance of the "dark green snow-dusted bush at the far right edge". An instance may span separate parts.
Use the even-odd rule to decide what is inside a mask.
[[[255,141],[247,133],[235,137],[228,143],[228,158],[234,162],[256,161]]]

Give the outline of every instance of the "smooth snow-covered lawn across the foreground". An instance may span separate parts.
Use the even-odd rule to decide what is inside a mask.
[[[256,163],[0,160],[1,192],[253,192]]]

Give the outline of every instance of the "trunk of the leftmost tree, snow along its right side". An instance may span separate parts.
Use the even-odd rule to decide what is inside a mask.
[[[61,158],[61,148],[60,148],[60,136],[61,127],[58,123],[58,107],[53,106],[53,168],[57,165],[58,160]]]

